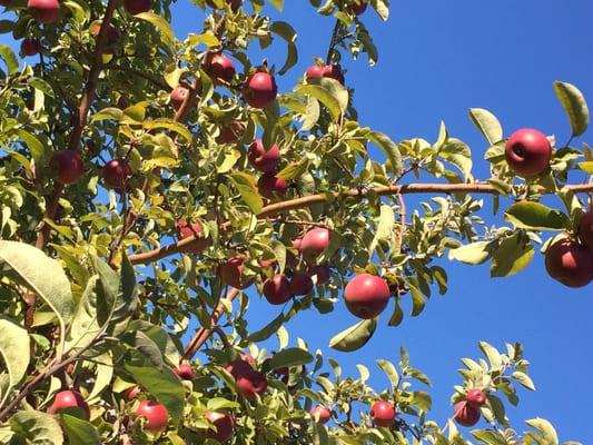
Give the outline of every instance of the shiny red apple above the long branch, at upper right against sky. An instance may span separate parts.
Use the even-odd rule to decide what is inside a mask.
[[[544,134],[523,128],[506,141],[506,164],[518,176],[540,175],[550,166],[552,146]]]

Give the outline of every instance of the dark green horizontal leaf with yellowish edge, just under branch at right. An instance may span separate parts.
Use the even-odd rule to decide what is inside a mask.
[[[520,229],[563,230],[571,227],[571,220],[562,211],[532,201],[512,205],[504,218]]]

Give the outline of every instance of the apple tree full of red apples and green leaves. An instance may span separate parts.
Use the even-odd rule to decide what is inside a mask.
[[[0,46],[1,443],[560,443],[505,416],[534,389],[518,343],[462,359],[443,424],[404,348],[373,388],[368,364],[343,375],[284,325],[345,305],[359,323],[329,346],[362,348],[446,293],[446,258],[504,277],[541,250],[550,279],[589,285],[593,184],[569,181],[593,175],[586,144],[505,135],[485,109],[470,111],[483,160],[444,125],[398,142],[360,127],[340,61],[377,61],[365,14],[387,20],[387,0],[310,0],[334,31],[289,90],[297,36],[266,14],[283,0],[194,0],[204,27],[184,40],[171,0],[0,3],[1,31],[38,56]],[[248,57],[275,41],[284,60]],[[583,95],[554,89],[583,135]],[[265,326],[253,298],[277,306]]]

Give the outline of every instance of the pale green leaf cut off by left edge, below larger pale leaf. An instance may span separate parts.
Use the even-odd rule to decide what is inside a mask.
[[[29,334],[27,330],[0,316],[0,355],[10,376],[10,386],[17,386],[27,375],[30,358],[28,350]]]

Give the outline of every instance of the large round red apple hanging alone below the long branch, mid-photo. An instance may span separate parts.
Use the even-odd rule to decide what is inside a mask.
[[[392,293],[387,283],[376,275],[360,274],[354,277],[344,289],[348,310],[358,318],[375,318],[379,315]]]

